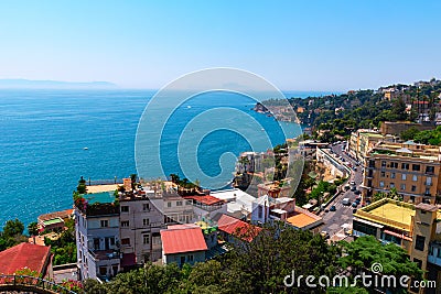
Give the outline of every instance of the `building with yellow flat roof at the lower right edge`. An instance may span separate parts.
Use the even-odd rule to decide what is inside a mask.
[[[400,246],[411,261],[428,272],[426,277],[441,283],[441,211],[437,206],[387,198],[375,202],[354,214],[353,235],[370,235],[383,243]]]

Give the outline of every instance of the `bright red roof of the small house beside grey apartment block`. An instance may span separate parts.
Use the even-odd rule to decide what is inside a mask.
[[[161,230],[164,254],[207,250],[202,229],[198,226],[178,225]]]

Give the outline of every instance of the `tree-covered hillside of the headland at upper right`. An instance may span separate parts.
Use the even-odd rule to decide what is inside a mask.
[[[342,95],[322,97],[290,98],[289,101],[303,124],[309,124],[315,131],[314,139],[323,142],[334,142],[348,138],[352,131],[365,128],[378,128],[381,121],[416,121],[424,113],[431,121],[440,111],[439,95],[441,83],[432,79],[423,85],[391,85],[394,95],[390,100],[385,94],[374,90],[356,90]],[[269,100],[269,105],[277,105]],[[406,111],[411,105],[411,111]],[[437,141],[440,143],[441,141]],[[438,144],[437,143],[437,144]]]

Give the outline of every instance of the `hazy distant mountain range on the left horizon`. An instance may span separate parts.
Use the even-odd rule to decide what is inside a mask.
[[[32,79],[0,79],[0,89],[114,89],[109,81],[61,81]]]

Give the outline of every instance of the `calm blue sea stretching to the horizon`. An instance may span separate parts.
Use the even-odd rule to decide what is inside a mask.
[[[152,90],[0,90],[0,225],[13,218],[28,225],[41,214],[71,208],[80,176],[112,179],[137,173],[137,127],[152,95]],[[275,119],[251,110],[252,100],[213,98],[213,102],[219,101],[233,104],[259,121],[272,143],[283,142]],[[207,96],[189,101],[172,115],[161,138],[161,153],[169,159],[165,173],[182,177],[175,140],[189,118],[212,105]],[[290,135],[299,134],[295,130]],[[220,172],[213,163],[223,153],[237,155],[249,149],[246,140],[228,131],[212,133],[204,142],[198,164],[212,176]]]

